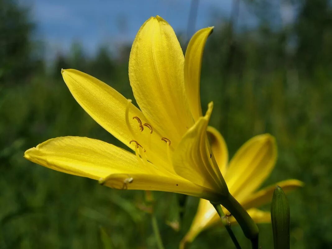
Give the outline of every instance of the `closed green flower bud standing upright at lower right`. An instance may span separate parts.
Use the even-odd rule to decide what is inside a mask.
[[[281,187],[277,186],[271,203],[274,249],[290,248],[290,207]]]

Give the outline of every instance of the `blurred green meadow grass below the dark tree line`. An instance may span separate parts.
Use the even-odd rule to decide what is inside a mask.
[[[332,85],[328,80],[303,79],[294,86],[280,75],[255,81],[248,80],[248,73],[242,80],[230,77],[227,86],[217,83],[218,75],[204,75],[203,108],[215,102],[211,124],[225,135],[230,155],[253,135],[276,136],[278,163],[264,185],[287,178],[305,183],[289,195],[291,247],[327,248],[332,244]],[[129,95],[127,79],[111,84]],[[27,85],[3,88],[0,94],[0,248],[156,248],[150,215],[142,210],[144,192],[113,190],[23,158],[26,149],[56,136],[88,136],[123,146],[80,108],[60,75],[55,80],[35,77]],[[198,199],[187,199],[181,230],[176,232],[166,225],[177,216],[176,208],[170,208],[176,195],[154,196],[165,248],[177,248]],[[271,225],[259,228],[262,248],[271,248]],[[239,227],[233,229],[243,248],[249,248]],[[221,245],[233,248],[224,229],[216,227],[201,233],[190,248]]]

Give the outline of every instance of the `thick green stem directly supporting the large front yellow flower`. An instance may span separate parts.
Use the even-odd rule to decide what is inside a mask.
[[[251,240],[252,249],[258,249],[258,227],[247,211],[229,194],[220,202],[236,219],[244,235]]]

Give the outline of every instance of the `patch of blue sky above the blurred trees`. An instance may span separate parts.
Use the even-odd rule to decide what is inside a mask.
[[[36,37],[45,41],[46,57],[65,53],[80,42],[93,54],[100,44],[116,51],[131,43],[143,22],[159,15],[176,32],[186,32],[191,0],[24,0],[37,24]],[[200,0],[195,29],[215,26],[215,15],[227,19],[232,1]],[[254,15],[240,6],[241,22],[254,23]]]

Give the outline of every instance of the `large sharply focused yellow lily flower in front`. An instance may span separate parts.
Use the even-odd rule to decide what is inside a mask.
[[[200,69],[212,28],[192,38],[184,58],[171,26],[151,17],[129,58],[130,85],[140,109],[83,72],[61,70],[71,94],[102,127],[135,153],[87,137],[57,137],[27,150],[42,166],[99,180],[117,189],[157,190],[219,201],[229,194],[207,139],[213,104],[202,115]]]

